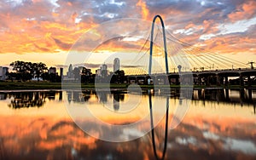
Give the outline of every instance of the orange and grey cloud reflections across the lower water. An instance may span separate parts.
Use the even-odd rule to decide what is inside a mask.
[[[199,107],[196,109],[201,110]],[[40,108],[40,111],[47,111],[47,114],[40,117],[37,112],[33,117],[15,112],[0,117],[0,122],[4,122],[0,125],[0,159],[154,159],[150,133],[128,142],[105,142],[84,134],[67,117],[49,116],[46,106]],[[56,107],[51,111],[55,111],[55,114],[58,112]],[[164,120],[155,129],[159,154],[164,142]],[[132,123],[134,119],[127,117],[117,122],[113,118],[109,121],[122,125]],[[113,134],[113,137],[124,138],[140,136],[141,130],[150,125],[147,122],[137,129],[113,133],[111,128],[102,127],[94,121],[86,120],[85,124],[96,137]],[[202,113],[191,116],[188,113],[176,129],[169,130],[166,159],[255,159],[255,133],[253,117],[220,117],[212,113],[211,116]]]

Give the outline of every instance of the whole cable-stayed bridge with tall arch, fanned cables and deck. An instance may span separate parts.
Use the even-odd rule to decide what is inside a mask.
[[[156,20],[160,20],[160,25]],[[151,31],[131,66],[126,71],[128,83],[179,84],[193,82],[197,85],[227,85],[229,77],[239,77],[239,85],[256,76],[253,62],[248,64],[231,60],[224,54],[211,53],[184,43],[165,29],[160,15],[153,19]],[[230,69],[231,68],[231,69]]]

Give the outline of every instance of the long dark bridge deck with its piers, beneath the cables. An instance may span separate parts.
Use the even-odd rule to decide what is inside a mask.
[[[163,76],[164,75],[164,76]],[[168,79],[165,79],[165,77]],[[228,85],[229,77],[239,77],[239,83],[237,85],[243,86],[245,81],[247,85],[252,84],[252,77],[256,76],[255,69],[224,69],[224,70],[207,70],[207,71],[181,71],[181,72],[168,72],[166,73],[154,73],[149,74],[136,74],[128,75],[128,83],[148,84],[148,78],[154,84],[180,84],[180,77],[193,76],[193,79],[189,78],[187,81],[193,81],[195,85]]]

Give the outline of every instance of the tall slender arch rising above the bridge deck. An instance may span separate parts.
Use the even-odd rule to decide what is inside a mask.
[[[167,49],[166,49],[166,30],[164,21],[160,17],[160,15],[155,15],[154,19],[152,21],[152,27],[151,27],[151,37],[150,37],[150,56],[149,56],[149,67],[148,67],[148,74],[151,75],[151,68],[152,68],[152,54],[153,54],[153,37],[154,37],[154,21],[159,18],[162,26],[163,31],[163,40],[164,40],[164,48],[165,48],[165,59],[166,59],[166,74],[169,72],[168,69],[168,59],[167,59]]]

